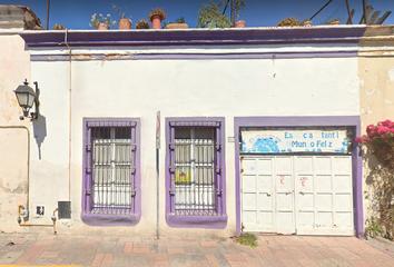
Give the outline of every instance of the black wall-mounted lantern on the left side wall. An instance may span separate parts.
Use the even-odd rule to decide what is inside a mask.
[[[40,90],[38,89],[38,83],[37,81],[33,82],[36,86],[36,92],[35,90],[29,87],[29,82],[27,79],[24,79],[23,85],[19,86],[17,88],[17,90],[14,90],[14,93],[17,96],[19,106],[22,108],[23,110],[23,116],[20,116],[19,118],[21,120],[24,119],[24,117],[29,116],[29,110],[32,108],[33,103],[36,106],[36,112],[30,112],[30,119],[37,119],[38,115],[39,115],[39,106],[40,102],[38,100],[38,97],[40,96]]]

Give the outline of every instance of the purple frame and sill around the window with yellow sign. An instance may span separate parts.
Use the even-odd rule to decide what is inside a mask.
[[[171,152],[175,146],[175,128],[177,127],[216,127],[216,215],[175,215],[175,171]],[[166,118],[166,221],[174,228],[205,228],[224,229],[227,226],[226,210],[226,150],[225,150],[225,118],[224,117],[193,117]]]

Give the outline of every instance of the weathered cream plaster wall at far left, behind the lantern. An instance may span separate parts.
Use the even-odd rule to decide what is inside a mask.
[[[30,55],[16,30],[0,29],[0,231],[27,231],[17,218],[18,206],[28,201],[30,126],[29,120],[19,120],[13,90],[24,79],[30,81]]]

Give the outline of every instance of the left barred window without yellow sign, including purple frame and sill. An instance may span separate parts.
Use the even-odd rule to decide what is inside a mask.
[[[82,220],[136,225],[140,218],[139,119],[86,118]]]

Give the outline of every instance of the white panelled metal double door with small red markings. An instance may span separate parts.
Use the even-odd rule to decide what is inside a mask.
[[[242,157],[245,231],[354,235],[352,157]]]

